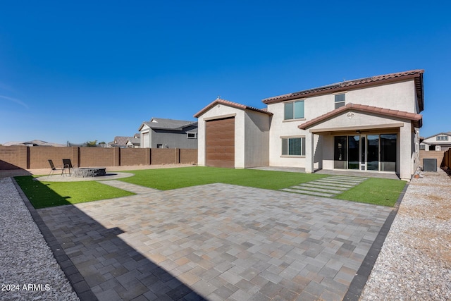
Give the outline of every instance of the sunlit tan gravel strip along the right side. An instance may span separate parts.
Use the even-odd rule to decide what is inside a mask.
[[[360,300],[451,300],[451,178],[413,178]]]

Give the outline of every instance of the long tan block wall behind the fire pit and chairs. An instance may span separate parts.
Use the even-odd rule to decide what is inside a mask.
[[[50,168],[49,159],[55,166],[70,159],[78,167],[197,164],[197,149],[0,146],[2,170]]]

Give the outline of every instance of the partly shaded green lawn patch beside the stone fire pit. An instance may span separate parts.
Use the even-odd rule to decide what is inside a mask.
[[[32,176],[15,179],[36,209],[135,195],[97,181],[40,182]]]

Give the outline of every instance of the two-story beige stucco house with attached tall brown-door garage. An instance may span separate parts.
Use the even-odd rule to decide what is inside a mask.
[[[216,99],[199,122],[200,166],[297,166],[396,173],[419,165],[424,70],[347,80],[263,99]],[[228,142],[226,142],[228,141]]]

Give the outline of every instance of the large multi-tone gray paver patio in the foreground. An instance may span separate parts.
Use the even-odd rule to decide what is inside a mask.
[[[216,183],[38,212],[99,300],[341,300],[391,210]]]

